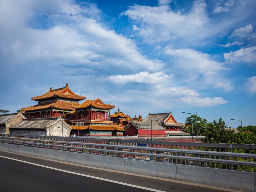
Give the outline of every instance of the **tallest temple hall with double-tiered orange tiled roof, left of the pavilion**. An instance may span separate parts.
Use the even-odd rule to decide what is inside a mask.
[[[59,89],[52,89],[51,87],[47,93],[31,99],[38,101],[38,104],[20,109],[28,119],[62,117],[62,113],[75,110],[74,106],[79,106],[78,101],[84,100],[86,97],[76,95],[66,84],[65,87]]]

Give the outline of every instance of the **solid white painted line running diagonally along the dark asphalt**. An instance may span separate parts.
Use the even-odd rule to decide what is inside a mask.
[[[155,191],[155,192],[166,192],[166,191],[161,191],[161,190],[157,190],[157,189],[152,189],[152,188],[142,187],[142,186],[138,186],[138,185],[132,185],[132,184],[123,183],[123,182],[119,182],[119,181],[114,181],[114,180],[104,179],[104,178],[100,178],[100,177],[95,177],[95,176],[91,176],[91,175],[85,175],[85,174],[82,174],[82,173],[76,173],[76,172],[66,171],[66,170],[63,170],[63,169],[57,169],[57,168],[54,168],[54,167],[48,167],[48,166],[45,166],[45,165],[30,163],[30,162],[27,162],[27,161],[22,161],[22,160],[19,160],[19,159],[13,159],[13,158],[10,158],[10,157],[5,157],[5,156],[0,156],[0,157],[6,158],[6,159],[11,159],[11,160],[14,160],[14,161],[19,161],[19,162],[22,162],[22,163],[36,165],[36,166],[39,166],[39,167],[53,169],[53,170],[57,170],[57,171],[61,171],[61,172],[66,172],[66,173],[71,173],[71,174],[80,175],[80,176],[84,176],[84,177],[89,177],[89,178],[93,178],[93,179],[108,181],[108,182],[117,183],[117,184],[120,184],[120,185],[126,185],[126,186],[129,186],[129,187],[135,187],[135,188],[140,188],[140,189],[145,189],[145,190],[148,190],[148,191]]]

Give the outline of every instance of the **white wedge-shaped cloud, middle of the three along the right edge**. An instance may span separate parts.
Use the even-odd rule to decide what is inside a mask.
[[[256,46],[241,48],[237,51],[231,51],[229,53],[224,53],[225,60],[231,63],[245,62],[250,64],[255,64],[256,61]]]

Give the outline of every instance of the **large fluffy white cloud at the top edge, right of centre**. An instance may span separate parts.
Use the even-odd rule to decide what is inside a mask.
[[[121,15],[126,15],[138,23],[139,35],[150,44],[179,37],[189,39],[195,35],[199,36],[199,31],[203,30],[203,26],[209,21],[204,1],[195,1],[190,11],[184,14],[179,10],[174,12],[168,1],[164,2],[156,7],[135,4]]]

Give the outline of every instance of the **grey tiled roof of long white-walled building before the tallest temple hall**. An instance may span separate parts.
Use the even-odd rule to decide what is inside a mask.
[[[45,129],[55,122],[59,117],[41,119],[23,119],[20,123],[10,127],[15,129]]]

